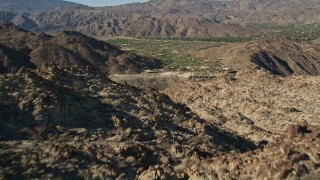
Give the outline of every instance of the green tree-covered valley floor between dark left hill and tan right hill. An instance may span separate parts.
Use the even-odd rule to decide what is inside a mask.
[[[200,51],[219,47],[225,43],[243,42],[249,38],[211,38],[211,39],[136,39],[113,38],[106,40],[129,53],[162,60],[165,70],[212,72],[221,68],[218,61],[204,61],[191,57],[188,51]]]

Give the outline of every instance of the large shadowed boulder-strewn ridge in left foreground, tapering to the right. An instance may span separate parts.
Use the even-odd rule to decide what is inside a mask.
[[[42,66],[0,83],[2,178],[134,178],[155,165],[174,177],[193,154],[255,148],[165,95],[104,75]]]

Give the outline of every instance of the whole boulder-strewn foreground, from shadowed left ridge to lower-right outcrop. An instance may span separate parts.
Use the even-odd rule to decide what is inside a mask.
[[[0,75],[0,177],[317,177],[319,126],[259,145],[152,89],[42,66]],[[23,87],[23,88],[22,88]]]

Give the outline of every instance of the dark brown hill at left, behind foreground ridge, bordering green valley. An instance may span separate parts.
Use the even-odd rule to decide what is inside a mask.
[[[0,34],[0,73],[42,64],[81,67],[102,73],[134,73],[161,67],[160,61],[127,54],[78,32],[64,31],[49,36],[0,24]]]

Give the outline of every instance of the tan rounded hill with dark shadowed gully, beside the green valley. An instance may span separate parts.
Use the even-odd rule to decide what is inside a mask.
[[[316,42],[266,37],[190,51],[190,54],[201,59],[219,61],[224,67],[240,71],[263,68],[272,74],[284,76],[320,75],[320,49]]]

